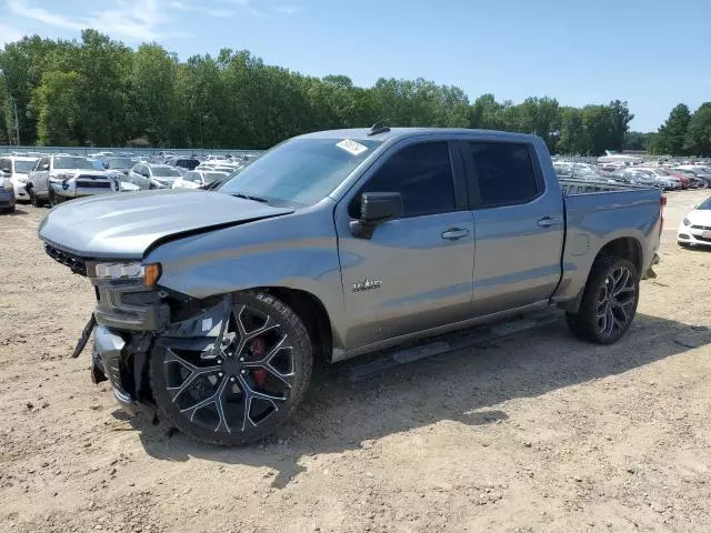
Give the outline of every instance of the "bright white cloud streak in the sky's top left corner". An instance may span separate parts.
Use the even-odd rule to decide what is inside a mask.
[[[31,7],[28,0],[8,0],[14,14],[67,30],[96,28],[101,32],[132,41],[151,41],[164,37],[186,37],[163,31],[170,22],[158,0],[117,0],[114,7],[92,12],[88,17],[70,19],[61,13]]]

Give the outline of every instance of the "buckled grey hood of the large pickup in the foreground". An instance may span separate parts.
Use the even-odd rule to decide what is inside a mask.
[[[113,193],[58,205],[40,223],[39,235],[84,258],[139,259],[167,237],[292,212],[211,191]]]

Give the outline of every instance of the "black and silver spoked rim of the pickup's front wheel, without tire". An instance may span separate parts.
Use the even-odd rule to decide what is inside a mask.
[[[170,401],[190,423],[213,432],[258,428],[289,401],[293,346],[271,314],[226,299],[217,338],[163,338]]]

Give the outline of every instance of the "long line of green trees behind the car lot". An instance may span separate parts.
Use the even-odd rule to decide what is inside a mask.
[[[668,147],[662,140],[677,142],[679,130],[674,120],[654,138],[630,132],[634,115],[620,100],[573,108],[549,97],[513,103],[483,94],[470,102],[462,89],[421,78],[362,88],[347,76],[268,66],[244,50],[182,62],[156,43],[134,50],[96,30],[80,41],[33,36],[9,43],[0,69],[0,144],[16,143],[19,130],[21,144],[123,147],[144,139],[153,147],[263,149],[309,131],[384,122],[530,132],[553,153],[598,155]],[[705,120],[694,122],[697,114],[684,131]]]

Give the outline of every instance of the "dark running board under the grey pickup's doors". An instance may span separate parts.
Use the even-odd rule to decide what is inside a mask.
[[[398,346],[389,351],[383,351],[381,355],[364,363],[347,365],[344,369],[346,378],[349,381],[367,380],[380,372],[394,369],[401,364],[455,352],[465,348],[480,346],[505,336],[532,330],[533,328],[558,322],[560,316],[560,312],[550,310],[539,311],[519,319],[509,319],[505,322],[480,325],[469,330],[439,335],[414,346]]]

